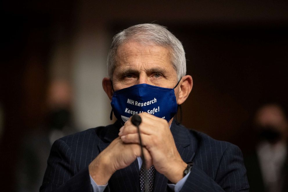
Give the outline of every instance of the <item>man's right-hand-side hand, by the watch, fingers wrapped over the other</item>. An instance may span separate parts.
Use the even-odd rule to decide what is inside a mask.
[[[139,116],[142,119],[139,129],[145,149],[146,168],[154,165],[172,183],[178,182],[183,177],[187,164],[177,151],[168,122],[148,113],[140,113]],[[131,118],[119,131],[118,135],[124,143],[140,144],[138,129],[132,124]]]

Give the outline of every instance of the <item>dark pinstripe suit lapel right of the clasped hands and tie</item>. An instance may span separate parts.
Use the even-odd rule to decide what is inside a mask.
[[[175,121],[172,122],[170,130],[182,160],[184,162],[191,162],[195,156],[195,151],[197,149],[197,139],[190,138],[188,130],[182,125],[177,125]],[[168,179],[164,175],[156,171],[153,191],[154,192],[166,191],[168,187],[167,182]]]

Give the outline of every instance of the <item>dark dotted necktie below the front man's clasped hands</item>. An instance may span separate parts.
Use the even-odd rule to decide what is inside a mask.
[[[143,166],[140,169],[140,190],[141,192],[152,192],[154,184],[154,176],[156,169],[154,166],[150,167],[149,170],[144,170]]]

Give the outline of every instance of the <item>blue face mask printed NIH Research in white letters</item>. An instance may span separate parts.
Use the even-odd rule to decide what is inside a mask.
[[[132,115],[143,112],[166,119],[169,122],[177,113],[174,88],[137,84],[117,90],[113,93],[111,101],[114,115],[122,124]]]

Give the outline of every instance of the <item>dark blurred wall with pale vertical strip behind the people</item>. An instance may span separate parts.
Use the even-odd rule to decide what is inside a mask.
[[[287,111],[287,10],[287,1],[1,1],[1,191],[17,190],[21,141],[45,122],[54,79],[71,84],[79,131],[110,123],[109,45],[138,23],[167,26],[183,43],[194,81],[183,124],[249,149],[255,110],[272,101]]]

